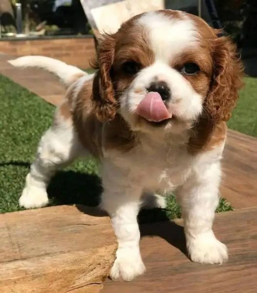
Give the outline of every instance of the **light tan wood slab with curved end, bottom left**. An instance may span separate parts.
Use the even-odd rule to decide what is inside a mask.
[[[98,293],[115,259],[109,217],[59,206],[0,215],[0,293]]]

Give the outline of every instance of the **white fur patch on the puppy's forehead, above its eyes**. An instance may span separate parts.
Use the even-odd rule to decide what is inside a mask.
[[[156,60],[169,63],[186,48],[196,46],[198,31],[186,14],[167,16],[148,12],[138,19],[138,24],[148,30],[149,41]]]

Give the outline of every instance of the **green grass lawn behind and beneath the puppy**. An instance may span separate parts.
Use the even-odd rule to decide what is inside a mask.
[[[255,93],[257,80],[246,78],[246,88],[229,126],[257,136]],[[50,126],[54,106],[0,76],[0,213],[20,210],[18,199],[29,166],[43,131]],[[246,115],[247,113],[247,115]],[[98,168],[93,159],[78,161],[60,171],[51,181],[48,193],[51,205],[85,204],[95,206],[101,191]],[[168,196],[166,210],[143,211],[141,222],[180,216],[175,198]],[[218,211],[233,209],[224,199]]]

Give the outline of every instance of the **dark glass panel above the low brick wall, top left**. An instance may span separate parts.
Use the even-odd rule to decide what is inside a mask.
[[[91,34],[80,0],[0,0],[1,36]]]

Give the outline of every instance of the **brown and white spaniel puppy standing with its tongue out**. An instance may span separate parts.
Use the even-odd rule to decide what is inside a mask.
[[[228,37],[197,16],[159,10],[102,35],[95,75],[41,56],[10,63],[47,69],[68,87],[40,140],[20,206],[47,205],[55,171],[91,154],[101,162],[100,207],[119,242],[112,279],[129,281],[144,272],[138,211],[143,205],[164,208],[158,193],[171,190],[191,260],[227,260],[212,225],[226,121],[242,86],[242,66]]]

